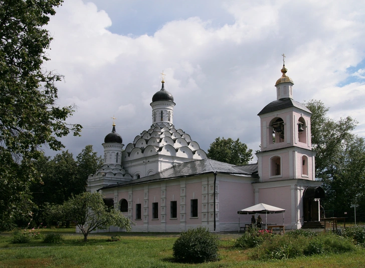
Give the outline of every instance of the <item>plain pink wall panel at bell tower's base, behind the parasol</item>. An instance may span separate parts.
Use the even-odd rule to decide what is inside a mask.
[[[290,186],[285,187],[275,187],[275,188],[267,188],[267,189],[259,189],[259,203],[265,203],[268,205],[280,207],[285,209],[285,219],[284,225],[288,225],[291,223],[291,189]],[[265,217],[263,217],[263,221],[265,221]],[[283,215],[282,213],[278,214],[268,214],[267,215],[268,223],[277,223],[282,224]]]

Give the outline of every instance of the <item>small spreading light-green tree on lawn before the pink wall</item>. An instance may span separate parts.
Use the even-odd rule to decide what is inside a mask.
[[[74,221],[84,234],[84,241],[96,228],[107,229],[113,225],[129,231],[132,224],[122,212],[105,205],[103,196],[98,192],[72,196],[63,205],[53,206],[50,211],[54,217],[62,214],[66,219]]]

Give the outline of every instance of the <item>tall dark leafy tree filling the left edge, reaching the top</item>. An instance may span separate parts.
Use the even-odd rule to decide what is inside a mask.
[[[63,147],[57,139],[81,126],[66,119],[74,106],[56,105],[61,75],[42,68],[52,40],[43,29],[62,0],[0,0],[0,229],[29,214],[29,185],[40,180],[34,166],[40,146]]]

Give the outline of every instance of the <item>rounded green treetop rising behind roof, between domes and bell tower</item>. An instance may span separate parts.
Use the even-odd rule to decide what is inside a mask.
[[[252,149],[247,149],[247,145],[240,142],[240,139],[234,141],[224,137],[222,139],[218,137],[211,143],[207,156],[233,165],[247,165],[253,158]]]

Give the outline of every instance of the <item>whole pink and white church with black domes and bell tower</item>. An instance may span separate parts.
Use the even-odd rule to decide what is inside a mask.
[[[277,99],[258,114],[261,152],[256,164],[235,166],[207,158],[198,142],[175,128],[174,99],[162,80],[150,104],[151,127],[123,150],[113,123],[103,143],[104,165],[89,175],[87,190],[102,192],[135,223],[132,231],[237,230],[237,211],[258,203],[284,208],[286,229],[319,221],[324,192],[315,181],[311,112],[293,100],[294,83],[285,65],[281,72]],[[240,220],[250,222],[250,217],[240,215]],[[283,221],[278,214],[268,218]]]

